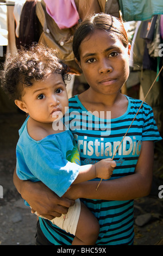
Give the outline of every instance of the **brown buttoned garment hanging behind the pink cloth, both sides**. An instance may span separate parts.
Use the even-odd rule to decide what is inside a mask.
[[[82,20],[93,13],[101,13],[105,10],[105,0],[74,0],[74,2]],[[57,49],[59,58],[65,60],[70,72],[80,75],[82,70],[74,60],[72,51],[73,34],[79,22],[71,28],[60,29],[54,19],[47,13],[46,3],[47,1],[39,0],[36,4],[36,16],[40,21],[39,43]]]

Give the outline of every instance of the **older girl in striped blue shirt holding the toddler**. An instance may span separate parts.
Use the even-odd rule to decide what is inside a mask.
[[[97,245],[132,245],[133,199],[146,196],[151,190],[153,142],[161,137],[151,107],[143,103],[123,139],[142,102],[121,94],[129,75],[130,45],[120,20],[107,14],[96,14],[82,22],[74,34],[73,52],[90,86],[86,92],[69,100],[70,129],[80,159],[82,164],[96,163],[115,154],[117,166],[111,178],[102,181],[98,190],[99,179],[95,179],[72,185],[64,197],[84,198],[84,204],[100,224]],[[39,191],[40,187],[43,190],[43,185],[34,188],[28,183],[22,186],[16,175],[14,181],[23,198],[29,197],[29,187],[33,191],[31,205],[34,210],[41,215],[55,216],[53,205],[50,209],[48,206],[46,212],[43,210],[48,200],[43,206],[36,203],[36,199],[41,200]],[[51,192],[47,193],[53,197]],[[56,205],[54,209],[62,211]],[[45,223],[40,222],[40,227],[42,238],[47,233]],[[48,236],[52,244],[70,245],[72,239],[71,235],[56,229]]]

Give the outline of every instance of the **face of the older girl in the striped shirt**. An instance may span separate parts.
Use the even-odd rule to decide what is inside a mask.
[[[130,45],[111,33],[96,30],[80,45],[80,68],[92,90],[111,95],[120,92],[129,75]]]

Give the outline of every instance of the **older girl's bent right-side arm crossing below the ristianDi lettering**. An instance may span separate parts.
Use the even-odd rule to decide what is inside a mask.
[[[64,194],[65,197],[130,200],[147,196],[151,191],[153,177],[153,142],[142,142],[141,153],[137,161],[135,173],[109,181],[102,181],[96,191],[99,181],[87,181],[72,185]]]

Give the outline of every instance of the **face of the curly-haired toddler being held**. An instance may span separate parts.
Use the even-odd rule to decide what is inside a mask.
[[[43,81],[36,81],[32,87],[24,88],[23,111],[41,123],[59,120],[68,108],[66,86],[61,74],[49,74]]]

